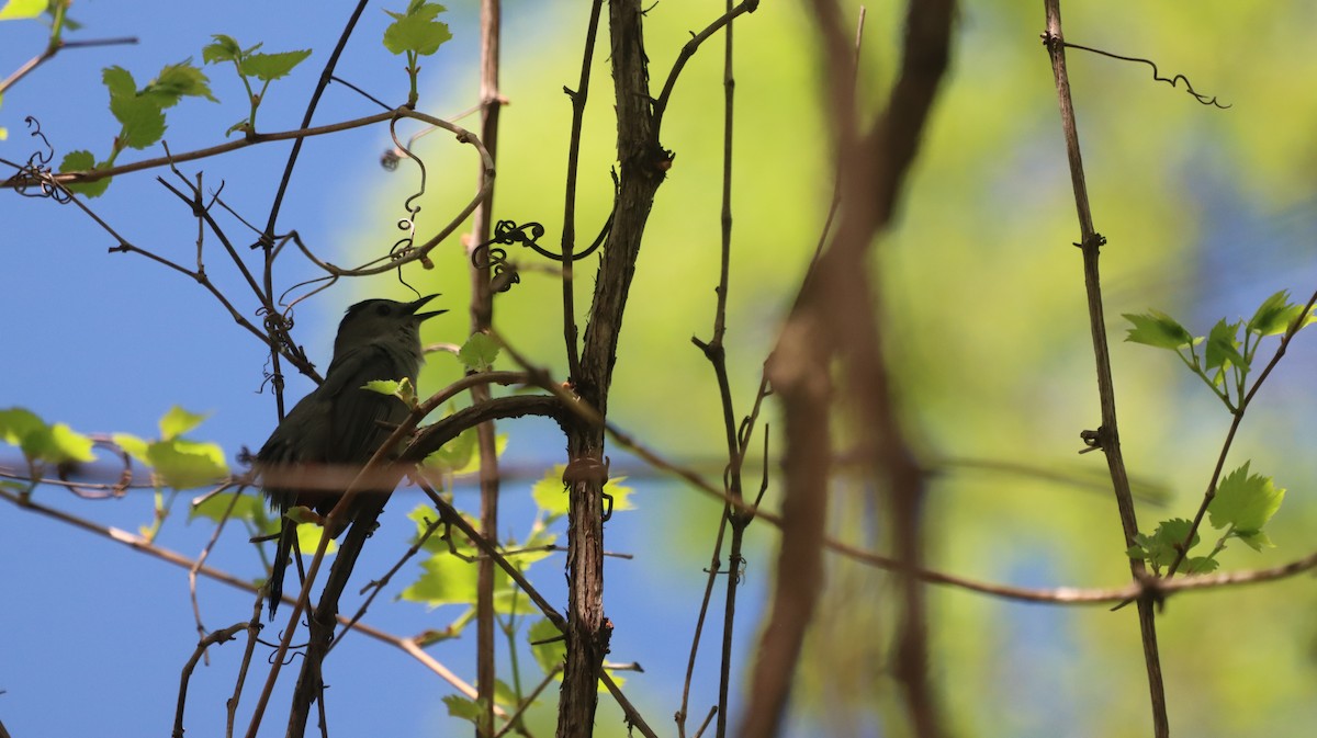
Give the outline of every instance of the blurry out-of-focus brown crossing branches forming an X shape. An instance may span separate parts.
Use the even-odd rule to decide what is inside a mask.
[[[951,0],[913,0],[900,75],[886,111],[864,135],[847,82],[846,36],[832,0],[815,0],[828,54],[832,120],[840,159],[842,218],[828,250],[807,275],[777,349],[769,376],[782,401],[786,437],[786,491],[777,595],[755,670],[752,705],[743,735],[773,735],[781,727],[786,685],[795,668],[805,626],[813,616],[822,576],[819,547],[827,510],[828,392],[832,360],[840,359],[848,418],[865,467],[886,492],[893,547],[901,562],[901,620],[896,676],[906,697],[913,731],[942,734],[927,674],[922,583],[923,479],[901,428],[890,367],[881,341],[877,280],[867,255],[888,228],[950,57]],[[785,595],[784,595],[785,592]],[[774,663],[776,662],[776,663]],[[782,674],[785,671],[785,674]]]

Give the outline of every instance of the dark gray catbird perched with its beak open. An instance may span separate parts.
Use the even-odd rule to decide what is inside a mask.
[[[403,379],[416,384],[420,368],[420,324],[445,313],[417,313],[429,295],[412,303],[366,300],[348,308],[333,342],[333,360],[324,383],[298,403],[274,429],[255,455],[261,485],[273,508],[279,509],[282,529],[270,572],[270,617],[283,596],[296,524],[284,514],[306,505],[328,514],[361,467],[407,417],[407,405],[390,395],[362,385],[377,379]],[[362,504],[383,505],[389,489],[367,487]],[[349,510],[349,520],[356,512]],[[338,530],[327,530],[338,535]]]

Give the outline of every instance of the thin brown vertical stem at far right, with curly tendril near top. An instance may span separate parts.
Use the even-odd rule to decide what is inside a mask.
[[[1062,130],[1065,135],[1065,153],[1069,158],[1071,183],[1075,189],[1075,208],[1079,213],[1080,249],[1084,255],[1084,287],[1088,293],[1089,332],[1093,338],[1093,358],[1097,364],[1097,392],[1102,410],[1102,425],[1097,441],[1106,454],[1106,468],[1115,489],[1115,504],[1125,530],[1125,545],[1131,546],[1139,531],[1134,514],[1134,496],[1130,493],[1130,479],[1125,470],[1125,456],[1121,453],[1121,435],[1115,424],[1115,384],[1112,380],[1112,357],[1106,342],[1106,318],[1102,310],[1102,285],[1097,268],[1098,254],[1105,238],[1093,226],[1093,212],[1088,203],[1088,185],[1084,180],[1084,160],[1080,157],[1079,128],[1075,122],[1075,104],[1071,100],[1069,75],[1065,72],[1065,47],[1062,36],[1060,0],[1044,0],[1047,11],[1047,33],[1044,41],[1052,62],[1052,76],[1056,83],[1056,97],[1060,104]],[[1144,576],[1142,559],[1130,559],[1130,574],[1139,579]],[[1152,702],[1152,729],[1159,738],[1171,734],[1166,714],[1166,687],[1162,680],[1162,658],[1156,643],[1156,621],[1152,601],[1141,599],[1139,634],[1143,641],[1143,663],[1148,675],[1148,697]]]

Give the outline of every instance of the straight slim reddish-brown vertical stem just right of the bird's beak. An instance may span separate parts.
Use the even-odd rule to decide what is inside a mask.
[[[502,26],[500,0],[481,0],[481,139],[490,153],[498,157],[498,118],[502,111],[499,95],[499,34]],[[481,170],[479,187],[486,187],[489,174]],[[473,213],[471,246],[490,238],[494,209],[494,189],[490,188],[485,200]],[[471,332],[490,328],[494,318],[494,296],[490,291],[490,268],[471,266]],[[489,384],[471,388],[471,403],[490,400]],[[477,443],[481,454],[481,534],[487,541],[498,539],[498,445],[495,442],[494,421],[482,422],[477,428]],[[495,687],[495,635],[494,624],[494,562],[482,556],[477,564],[475,579],[475,692],[483,701],[475,734],[494,735],[494,687]]]

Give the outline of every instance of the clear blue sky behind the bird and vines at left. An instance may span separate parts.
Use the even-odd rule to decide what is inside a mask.
[[[104,155],[117,124],[107,109],[100,70],[122,66],[141,84],[165,63],[184,58],[200,62],[200,49],[212,33],[233,36],[244,46],[265,42],[266,51],[315,50],[292,78],[271,86],[261,109],[259,120],[267,130],[296,128],[315,76],[346,17],[346,4],[325,8],[319,3],[148,1],[125,11],[122,4],[78,3],[72,16],[84,29],[68,38],[132,36],[138,43],[66,50],[12,88],[0,107],[0,125],[9,129],[0,157],[22,160],[33,150],[34,139],[26,135],[29,129],[24,124],[29,114],[40,120],[41,130],[57,149],[57,160],[74,149]],[[445,20],[454,41],[424,61],[424,79],[444,79],[448,100],[468,100],[469,95],[469,101],[458,108],[468,107],[475,93],[474,76],[468,74],[477,55],[475,17],[466,8],[454,8]],[[378,41],[387,21],[378,7],[367,8],[338,68],[371,93],[400,101],[406,95],[403,63]],[[548,13],[519,12],[508,22],[554,20]],[[38,24],[0,24],[0,72],[8,75],[43,43],[45,28]],[[221,104],[184,100],[169,111],[166,141],[174,151],[220,142],[223,130],[244,116],[241,88],[230,70],[205,67],[205,71]],[[369,101],[332,86],[316,121],[373,112]],[[342,253],[344,234],[369,217],[373,200],[365,193],[387,178],[378,166],[386,145],[387,132],[379,128],[348,132],[329,143],[309,142],[282,210],[281,229],[296,228],[303,239],[331,260],[352,260]],[[184,171],[204,170],[208,189],[223,179],[225,200],[263,224],[286,150],[284,143],[263,146]],[[158,147],[125,151],[120,160],[158,153]],[[195,221],[155,183],[157,175],[171,176],[165,171],[122,176],[90,205],[134,243],[192,266]],[[241,447],[259,446],[275,420],[270,395],[261,392],[265,349],[233,325],[198,284],[138,255],[107,253],[115,241],[68,205],[12,195],[0,197],[0,224],[4,259],[0,339],[5,347],[0,378],[7,388],[0,406],[21,405],[47,421],[67,422],[90,433],[153,437],[157,418],[178,404],[212,413],[194,435],[220,443],[230,460]],[[230,233],[242,232],[237,224],[229,221],[229,225]],[[208,243],[215,247],[213,239]],[[242,285],[232,266],[224,263],[217,249],[209,254],[211,278],[221,289],[240,295]],[[281,275],[284,284],[307,276],[312,272],[304,267],[291,267]],[[369,289],[340,288],[335,297],[311,301],[298,312],[298,341],[320,367],[328,364],[332,332],[342,308]],[[253,307],[250,300],[240,304],[249,318]],[[291,378],[287,392],[295,399],[308,388],[306,380]],[[532,447],[536,439],[548,438],[541,430],[529,433]],[[17,456],[11,454],[0,456],[3,464],[14,460]],[[552,460],[549,454],[545,462]],[[661,487],[652,487],[652,493],[661,492]],[[125,530],[136,530],[150,517],[148,492],[133,493],[125,501],[90,504],[78,503],[59,489],[42,488],[37,499]],[[469,491],[458,489],[458,504],[473,500]],[[395,499],[381,535],[400,541],[408,525],[403,514],[415,504],[412,497]],[[523,503],[519,509],[516,500],[511,500],[506,517],[515,520],[525,508]],[[195,555],[211,529],[203,524],[186,525],[184,514],[186,499],[175,506],[175,517],[166,524],[159,545]],[[631,517],[619,514],[610,524],[610,534],[615,541],[644,546],[648,534],[639,517]],[[227,530],[211,563],[255,579],[258,562],[242,538],[240,530]],[[134,735],[167,730],[179,671],[196,642],[186,572],[103,537],[13,508],[0,510],[0,560],[5,562],[0,583],[9,593],[0,609],[0,652],[4,652],[0,720],[9,731]],[[541,579],[551,600],[565,606],[561,576],[553,572],[560,563],[561,559],[541,563]],[[378,572],[389,566],[389,556],[367,556],[358,566],[358,572]],[[665,649],[666,638],[644,634],[653,629],[689,633],[695,614],[695,601],[687,592],[690,581],[651,576],[653,572],[635,576],[643,566],[639,563],[608,566],[623,575],[611,578],[619,601],[644,604],[635,612],[610,613],[619,624],[614,658],[645,666],[649,674],[633,675],[628,693],[641,704],[661,699],[651,705],[660,709],[647,712],[655,716],[652,720],[666,722],[674,709],[673,689],[680,685],[685,655]],[[387,595],[399,589],[400,584],[395,584]],[[752,588],[747,601],[760,597],[760,589]],[[203,580],[199,597],[207,629],[249,617],[248,593]],[[668,606],[657,608],[658,603]],[[383,604],[367,620],[398,634],[414,634],[424,627],[443,627],[452,617],[454,613],[446,610],[425,613],[411,604]],[[753,621],[747,618],[747,622]],[[751,634],[752,627],[747,626],[743,639]],[[267,637],[274,635],[267,631]],[[473,681],[473,639],[474,633],[433,649],[432,655]],[[219,734],[241,651],[241,643],[216,649],[211,666],[198,670],[188,700],[190,734]],[[331,664],[335,733],[421,735],[449,725],[439,697],[450,688],[400,651],[349,638]],[[258,655],[255,667],[257,674],[263,672],[263,656]],[[291,680],[286,670],[282,695],[286,696]],[[653,689],[644,687],[645,683],[664,687]],[[246,708],[254,700],[250,689],[244,699]],[[278,695],[274,705],[279,705]],[[278,714],[275,710],[266,721],[262,734],[282,734]]]

